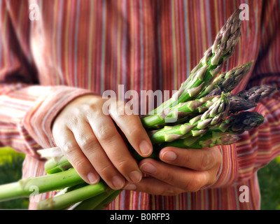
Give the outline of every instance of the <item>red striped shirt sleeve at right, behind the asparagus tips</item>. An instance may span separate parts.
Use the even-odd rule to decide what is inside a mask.
[[[244,132],[232,146],[221,147],[223,164],[215,187],[232,185],[251,178],[261,167],[280,155],[280,22],[279,1],[263,3],[260,29],[260,51],[246,89],[270,85],[276,91],[262,99],[253,111],[265,117],[264,123]],[[213,186],[213,187],[214,187]]]

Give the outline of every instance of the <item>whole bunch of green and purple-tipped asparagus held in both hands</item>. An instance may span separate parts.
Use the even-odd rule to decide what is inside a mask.
[[[162,148],[203,149],[234,144],[239,134],[251,131],[264,122],[264,117],[250,109],[274,92],[262,85],[232,94],[232,90],[251,70],[253,62],[221,73],[224,63],[235,52],[241,35],[241,20],[235,11],[216,36],[214,45],[191,71],[179,90],[141,121],[154,149],[151,158],[158,159]],[[129,145],[134,157],[141,158]],[[105,209],[121,190],[112,190],[104,181],[94,186],[80,178],[59,148],[38,151],[45,158],[45,176],[22,179],[0,186],[0,201],[29,197],[37,193],[60,190],[54,197],[38,202],[37,209]]]

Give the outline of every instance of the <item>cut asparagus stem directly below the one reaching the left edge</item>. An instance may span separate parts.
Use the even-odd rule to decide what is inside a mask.
[[[38,202],[36,209],[37,210],[60,210],[66,209],[71,205],[87,200],[90,197],[94,197],[101,193],[106,192],[109,188],[102,182],[97,183],[96,185],[87,185],[76,190],[71,190],[68,193],[62,195],[57,195],[50,197],[46,200],[41,200]]]

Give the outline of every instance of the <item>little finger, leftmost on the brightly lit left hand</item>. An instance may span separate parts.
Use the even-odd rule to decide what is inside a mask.
[[[68,128],[60,129],[59,134],[55,134],[55,143],[85,182],[92,185],[99,182],[99,175],[80,150],[73,133]]]

